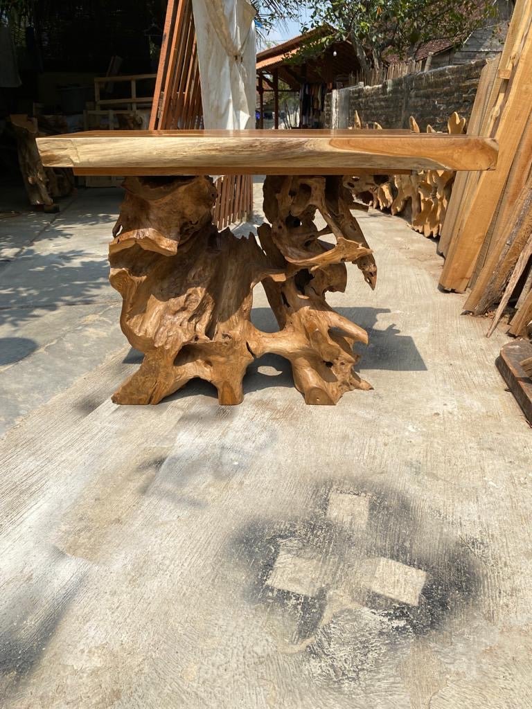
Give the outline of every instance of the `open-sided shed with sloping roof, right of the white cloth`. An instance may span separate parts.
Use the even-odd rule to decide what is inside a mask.
[[[273,96],[274,128],[279,128],[279,94],[291,92],[299,92],[298,127],[323,128],[326,93],[345,86],[349,75],[360,71],[355,48],[347,40],[318,50],[316,40],[326,33],[326,28],[316,28],[257,53],[258,128],[265,127],[265,94]],[[279,82],[287,88],[279,88]]]

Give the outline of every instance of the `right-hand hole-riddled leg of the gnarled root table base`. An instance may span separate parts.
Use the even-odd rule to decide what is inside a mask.
[[[327,291],[345,291],[345,262],[358,264],[372,289],[377,266],[358,222],[349,177],[266,177],[264,212],[270,224],[258,229],[263,250],[284,270],[283,283],[265,281],[264,288],[283,347],[268,351],[292,363],[294,384],[309,404],[335,404],[345,391],[372,389],[353,370],[359,357],[355,342],[367,344],[367,333],[335,313]],[[326,222],[318,230],[316,212]],[[336,245],[319,239],[332,235]]]

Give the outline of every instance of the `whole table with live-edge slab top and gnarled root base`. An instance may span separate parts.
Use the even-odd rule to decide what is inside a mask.
[[[245,371],[265,352],[289,359],[306,403],[371,389],[353,370],[353,344],[367,344],[367,333],[325,299],[345,290],[345,262],[372,289],[377,280],[352,214],[353,181],[367,172],[492,169],[497,161],[494,140],[406,130],[106,130],[37,142],[47,167],[128,175],[110,280],[123,298],[123,333],[144,359],[113,395],[123,404],[158,403],[194,377],[211,381],[221,404],[240,403]],[[235,173],[267,176],[260,243],[212,223],[216,189],[206,175]],[[277,333],[250,321],[259,282]]]

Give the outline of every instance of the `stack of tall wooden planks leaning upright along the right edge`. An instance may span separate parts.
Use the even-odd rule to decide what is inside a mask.
[[[439,245],[440,286],[470,286],[465,310],[476,315],[500,303],[497,319],[513,298],[514,335],[532,320],[531,25],[531,0],[518,0],[499,62],[482,72],[467,130],[498,140],[497,169],[457,177]]]

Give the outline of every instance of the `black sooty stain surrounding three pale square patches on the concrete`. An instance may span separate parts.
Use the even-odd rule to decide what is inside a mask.
[[[326,518],[332,491],[367,498],[365,527],[346,529],[345,525]],[[369,646],[375,644],[375,633],[381,645],[384,638],[385,647],[401,644],[401,638],[426,635],[445,625],[448,619],[465,614],[474,602],[481,583],[480,564],[462,540],[445,532],[430,510],[373,481],[355,485],[328,481],[316,486],[312,499],[315,506],[306,518],[279,521],[257,517],[235,535],[230,547],[233,563],[247,573],[244,592],[248,602],[262,606],[268,614],[286,617],[295,628],[292,642],[311,641],[308,653],[321,652],[320,647],[330,645],[333,641],[327,637],[332,632],[335,643],[347,643],[350,649],[345,651],[344,647],[343,652],[348,652],[353,664],[362,657],[360,648],[365,647],[366,641]],[[336,564],[333,581],[324,584],[314,596],[272,588],[268,579],[283,540],[296,540],[301,549],[328,560],[333,566]],[[332,618],[331,613],[326,615],[328,593],[334,593],[336,586],[340,587],[350,574],[356,574],[350,568],[356,569],[356,564],[367,559],[382,557],[426,572],[419,605],[367,591],[353,608],[340,606]],[[343,623],[339,618],[343,618]],[[342,624],[345,627],[340,631]],[[368,635],[370,627],[372,632]],[[345,674],[341,669],[338,672]],[[336,670],[331,669],[331,673],[336,677]]]

